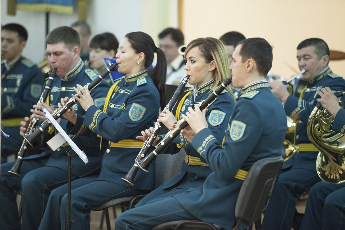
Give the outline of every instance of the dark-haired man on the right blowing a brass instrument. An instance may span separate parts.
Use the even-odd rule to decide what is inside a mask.
[[[306,125],[321,88],[328,86],[334,91],[345,90],[345,80],[328,67],[329,49],[324,40],[309,38],[299,43],[297,60],[299,69],[305,70],[302,77],[307,81],[299,98],[290,95],[282,82],[275,80],[269,85],[278,99],[285,103],[286,115],[296,122],[294,143],[299,152],[293,159],[292,168],[279,176],[275,195],[265,211],[265,230],[290,230],[297,195],[321,180],[315,167],[319,150],[308,139]]]

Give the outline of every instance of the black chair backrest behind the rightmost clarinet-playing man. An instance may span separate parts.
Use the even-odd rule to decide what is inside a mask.
[[[255,222],[273,196],[276,181],[282,169],[284,159],[279,157],[258,160],[248,171],[240,189],[235,216],[250,222]]]

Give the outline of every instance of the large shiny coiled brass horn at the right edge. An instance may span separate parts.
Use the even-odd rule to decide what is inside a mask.
[[[342,97],[344,92],[335,92]],[[344,108],[344,103],[339,100]],[[332,131],[334,117],[320,103],[309,116],[307,134],[309,140],[320,151],[316,159],[316,171],[323,181],[343,183],[345,181],[345,136]]]

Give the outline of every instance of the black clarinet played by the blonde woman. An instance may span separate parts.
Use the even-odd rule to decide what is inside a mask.
[[[165,106],[164,109],[169,110],[170,112],[174,109],[178,98],[180,97],[183,89],[185,88],[187,82],[188,82],[189,76],[187,75],[179,84],[179,86],[177,87],[177,89],[174,92],[174,95],[172,96],[172,98],[170,99],[169,103]],[[124,182],[126,182],[127,184],[134,186],[134,178],[138,172],[139,166],[137,164],[137,162],[139,160],[142,160],[145,156],[146,153],[148,152],[149,148],[151,147],[152,143],[155,141],[159,131],[161,130],[162,126],[160,125],[160,123],[155,122],[154,123],[154,131],[152,132],[151,136],[145,140],[144,145],[141,147],[137,158],[134,160],[134,165],[132,166],[132,168],[129,170],[129,172],[127,173],[127,175],[124,178],[121,178],[121,180],[123,180]]]

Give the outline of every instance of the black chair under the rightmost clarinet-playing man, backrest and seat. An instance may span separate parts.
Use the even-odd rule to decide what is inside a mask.
[[[243,219],[255,222],[256,230],[261,229],[261,214],[274,194],[283,161],[281,156],[264,158],[256,161],[250,168],[238,194],[235,216],[239,220],[233,229],[239,229]],[[223,228],[203,221],[180,220],[159,224],[151,230],[170,229],[220,230]]]

